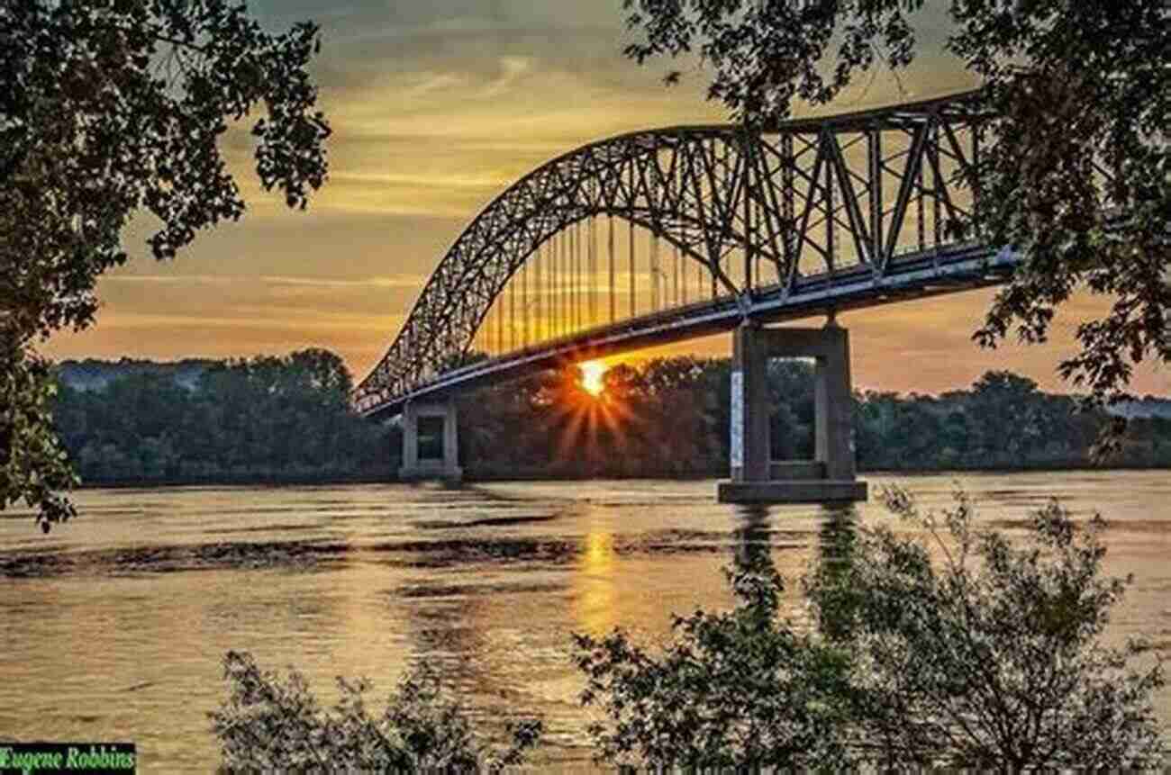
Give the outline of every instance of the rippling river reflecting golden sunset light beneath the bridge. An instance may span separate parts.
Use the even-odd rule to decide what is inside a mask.
[[[1109,639],[1143,633],[1171,656],[1167,472],[867,479],[871,493],[897,481],[936,507],[958,483],[981,521],[1014,533],[1050,495],[1077,519],[1100,510],[1107,570],[1135,575]],[[543,716],[536,763],[586,768],[593,716],[577,704],[569,633],[622,625],[662,638],[672,611],[731,605],[720,568],[746,541],[767,540],[793,579],[835,519],[816,506],[752,519],[714,491],[93,489],[76,494],[81,516],[49,535],[27,512],[2,513],[0,740],[133,741],[139,771],[212,770],[207,713],[226,695],[221,660],[234,649],[265,667],[296,666],[329,704],[335,675],[369,677],[374,707],[411,660],[433,660],[478,716]],[[856,509],[862,523],[891,519],[874,496]],[[1171,722],[1171,688],[1157,709]]]

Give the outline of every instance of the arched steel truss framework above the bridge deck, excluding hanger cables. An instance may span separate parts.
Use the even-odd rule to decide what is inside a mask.
[[[745,314],[765,294],[785,299],[827,277],[881,280],[904,253],[960,245],[960,227],[971,245],[987,119],[966,92],[760,133],[639,131],[566,153],[501,193],[459,236],[355,403],[368,413],[397,406],[460,366],[509,279],[591,217],[666,240],[704,267],[713,296]]]

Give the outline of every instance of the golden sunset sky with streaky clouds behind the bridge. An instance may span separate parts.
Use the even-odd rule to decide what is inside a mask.
[[[249,2],[279,29],[313,19],[313,66],[334,129],[330,176],[306,212],[265,194],[247,136],[225,150],[247,214],[199,235],[171,262],[149,256],[144,217],[126,233],[132,256],[98,282],[97,324],[62,332],[55,358],[251,357],[307,347],[338,352],[361,379],[393,341],[431,270],[488,203],[545,162],[637,129],[719,122],[705,73],[684,63],[638,67],[622,0],[266,0]],[[858,110],[978,85],[941,47],[944,4],[918,22],[924,54],[896,82],[888,73],[817,112]],[[799,105],[797,115],[810,111]],[[1068,392],[1056,366],[1076,351],[1080,320],[1102,300],[1076,297],[1045,345],[971,341],[992,293],[971,292],[838,317],[850,329],[856,388],[943,392],[1009,369]],[[812,320],[804,325],[820,325]],[[725,356],[731,336],[655,354]],[[639,354],[641,357],[648,354]],[[653,355],[653,354],[652,354]],[[1171,393],[1171,371],[1142,365],[1138,393]]]

